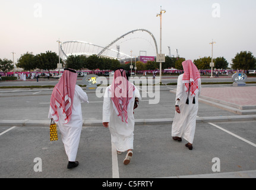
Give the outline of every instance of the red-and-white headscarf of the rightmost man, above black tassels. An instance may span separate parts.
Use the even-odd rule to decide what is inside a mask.
[[[201,80],[200,72],[191,60],[182,62],[182,66],[184,69],[182,83],[185,84],[185,91],[188,92],[190,84],[189,94],[191,94],[191,96],[195,96],[199,91],[198,81]]]

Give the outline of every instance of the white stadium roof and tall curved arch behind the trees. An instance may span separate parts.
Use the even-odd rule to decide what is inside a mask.
[[[156,47],[156,53],[158,53],[157,42],[154,35],[146,29],[136,29],[136,30],[129,31],[128,33],[125,33],[124,35],[118,37],[106,47],[94,45],[93,43],[83,42],[79,40],[71,40],[71,41],[63,42],[61,43],[61,46],[60,46],[61,57],[65,59],[69,55],[86,55],[86,56],[97,55],[97,56],[104,56],[108,58],[117,59],[118,56],[116,55],[120,55],[120,58],[131,58],[130,55],[119,52],[115,49],[110,49],[110,46],[112,46],[114,43],[118,42],[118,40],[124,38],[128,34],[135,33],[137,31],[146,31],[146,33],[148,33],[152,37],[154,41],[154,45]]]

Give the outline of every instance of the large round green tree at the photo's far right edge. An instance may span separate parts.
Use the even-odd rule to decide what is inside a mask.
[[[256,59],[251,52],[240,52],[236,53],[234,59],[232,59],[233,64],[231,64],[233,69],[254,69],[256,64]]]

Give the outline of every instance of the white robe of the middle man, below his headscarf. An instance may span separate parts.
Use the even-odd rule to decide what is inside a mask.
[[[132,84],[132,83],[131,83]],[[134,85],[134,84],[132,84]],[[134,86],[135,87],[135,86]],[[113,102],[111,100],[110,85],[106,88],[103,102],[103,119],[102,122],[109,122],[109,131],[111,134],[111,142],[115,144],[116,150],[124,152],[133,149],[134,141],[134,101],[135,97],[141,100],[140,92],[135,87],[133,98],[129,100],[127,106],[128,124],[122,122],[115,112]]]

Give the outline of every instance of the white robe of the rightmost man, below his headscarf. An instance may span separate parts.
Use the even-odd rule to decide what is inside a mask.
[[[182,84],[182,75],[178,77],[177,89],[176,89],[176,105],[179,105],[181,113],[175,112],[175,116],[172,124],[172,137],[182,137],[193,144],[195,135],[195,125],[198,112],[198,96],[201,91],[201,80],[198,81],[199,92],[195,95],[195,104],[193,99],[189,95],[189,105],[186,104],[188,92],[185,91],[185,84]],[[179,99],[179,100],[178,100]]]

